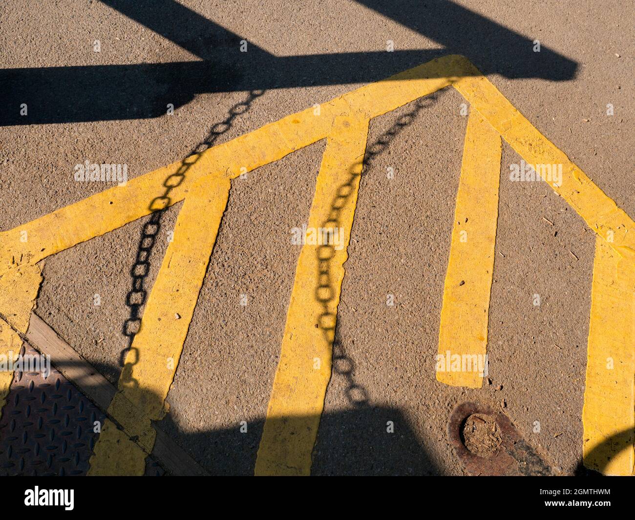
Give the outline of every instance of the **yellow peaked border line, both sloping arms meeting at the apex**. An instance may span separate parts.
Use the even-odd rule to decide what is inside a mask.
[[[550,183],[552,189],[584,218],[598,236],[606,239],[608,245],[624,258],[624,265],[629,265],[629,269],[632,269],[635,265],[635,223],[631,217],[618,208],[578,166],[520,114],[474,65],[458,55],[432,60],[323,103],[320,105],[319,115],[314,109],[291,114],[206,150],[199,156],[185,159],[186,163],[194,164],[187,171],[184,182],[171,190],[170,199],[164,200],[163,204],[168,206],[182,201],[186,196],[189,198],[195,183],[208,173],[227,179],[235,178],[243,171],[251,171],[277,161],[301,147],[327,137],[340,117],[354,114],[356,120],[371,119],[450,84],[457,88],[471,103],[472,109],[479,112],[527,163],[563,165],[563,182],[559,186]],[[126,187],[114,187],[15,229],[1,232],[0,276],[6,277],[12,272],[21,272],[21,269],[25,272],[29,266],[36,265],[50,255],[149,214],[149,201],[163,191],[164,180],[178,171],[180,166],[181,163],[175,163],[160,168],[131,180]],[[25,237],[28,238],[23,239]],[[33,287],[37,291],[36,281],[33,284],[29,286],[29,291]],[[15,287],[20,288],[19,285]],[[13,289],[11,286],[11,291]],[[32,305],[32,302],[29,304]],[[15,305],[15,308],[11,305]],[[10,303],[6,307],[8,314],[22,316],[26,307],[20,305],[22,304],[19,302]],[[191,305],[193,308],[195,300]],[[149,325],[155,326],[151,322]],[[6,341],[5,338],[4,342]],[[1,388],[4,385],[6,383]],[[163,391],[163,383],[159,386]],[[2,391],[0,390],[0,394]],[[628,388],[622,388],[623,395],[628,391]],[[123,404],[121,407],[125,408]],[[138,422],[131,421],[133,425]],[[131,429],[134,430],[132,427]],[[144,444],[144,432],[147,429],[139,427],[138,430]],[[150,441],[151,439],[147,439],[144,445],[151,444]],[[306,464],[303,462],[298,470],[304,472],[305,469]]]

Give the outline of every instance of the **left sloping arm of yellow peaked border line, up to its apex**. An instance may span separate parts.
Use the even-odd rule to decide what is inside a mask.
[[[164,204],[171,206],[182,201],[190,187],[204,175],[211,173],[236,178],[244,171],[255,170],[325,138],[337,116],[351,112],[361,112],[370,118],[380,116],[448,86],[455,79],[451,74],[463,67],[462,60],[464,58],[458,56],[432,60],[323,103],[319,112],[313,108],[302,110],[199,155],[187,157],[184,162],[191,164],[187,175],[171,190],[170,199]],[[169,164],[130,180],[125,186],[112,187],[1,232],[0,274],[16,262],[39,262],[148,215],[150,201],[163,192],[164,181],[180,166],[182,162]],[[28,243],[20,241],[22,232],[27,232]]]

